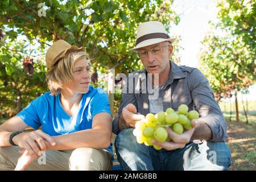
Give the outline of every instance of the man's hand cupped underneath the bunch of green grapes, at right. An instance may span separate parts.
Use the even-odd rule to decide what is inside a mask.
[[[183,134],[179,135],[176,134],[170,127],[167,127],[168,136],[171,138],[171,142],[158,142],[157,140],[153,139],[152,143],[156,144],[159,147],[162,147],[166,150],[176,150],[177,148],[184,148],[185,144],[187,144],[195,131],[196,127],[200,126],[200,122],[197,119],[193,119],[191,121],[192,129],[185,131]]]

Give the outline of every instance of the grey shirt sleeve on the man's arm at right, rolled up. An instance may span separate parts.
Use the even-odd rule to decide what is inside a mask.
[[[226,121],[220,106],[214,100],[209,81],[199,69],[193,69],[188,77],[188,85],[193,104],[200,114],[199,121],[207,123],[212,130],[212,139],[210,140],[212,142],[225,142],[228,138]]]

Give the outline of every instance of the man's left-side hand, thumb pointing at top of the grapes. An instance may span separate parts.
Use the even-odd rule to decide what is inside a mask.
[[[137,121],[141,121],[141,119],[145,118],[144,115],[136,113],[137,109],[133,104],[128,104],[127,106],[123,107],[122,117],[127,123],[127,125],[134,127]]]

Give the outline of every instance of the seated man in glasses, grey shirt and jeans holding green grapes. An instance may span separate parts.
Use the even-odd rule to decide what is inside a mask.
[[[119,113],[113,121],[118,161],[124,170],[226,170],[231,161],[225,144],[228,135],[224,116],[199,69],[179,67],[170,61],[174,40],[160,22],[141,23],[138,27],[136,46],[130,50],[138,51],[145,69],[134,75],[158,74],[159,80],[155,82],[152,78],[150,84],[159,93],[154,99],[148,92],[143,93],[143,88],[138,89],[139,93],[131,93],[137,84],[129,85],[130,78],[127,79],[129,91],[122,94]],[[142,77],[140,81],[146,80]],[[194,107],[200,113],[200,118],[192,121],[191,130],[177,135],[168,128],[171,142],[153,141],[163,148],[159,151],[137,143],[133,135],[137,121],[168,107],[177,110],[180,104],[188,105],[189,110]]]

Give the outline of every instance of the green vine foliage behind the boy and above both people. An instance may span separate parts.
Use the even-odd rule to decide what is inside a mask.
[[[56,40],[64,39],[70,44],[85,46],[92,57],[93,70],[101,76],[111,68],[115,68],[116,74],[127,74],[143,69],[137,53],[129,51],[135,45],[139,23],[159,20],[169,31],[172,22],[179,22],[179,16],[172,9],[172,1],[166,0],[44,2],[40,5],[40,1],[0,1],[0,29],[6,34],[0,42],[2,112],[9,107],[16,108],[17,102],[19,109],[14,110],[16,113],[32,98],[47,90],[44,84],[47,69],[41,61],[44,62],[44,53]],[[17,42],[19,35],[27,41],[26,44]],[[29,46],[34,52],[28,53]],[[179,47],[174,48],[173,59],[179,62],[179,56],[176,56]],[[15,57],[17,53],[19,56]],[[42,55],[41,61],[34,64],[34,75],[27,76],[22,61],[25,57],[39,59],[32,55]],[[106,85],[104,80],[99,81],[95,86]],[[20,99],[17,100],[18,97]],[[120,96],[116,94],[115,98]]]

